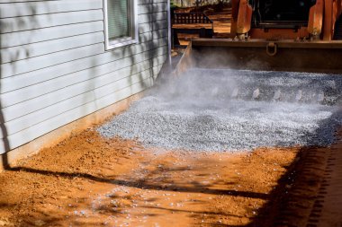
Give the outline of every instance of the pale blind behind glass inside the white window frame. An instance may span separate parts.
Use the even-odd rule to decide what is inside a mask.
[[[130,0],[107,0],[108,38],[120,39],[131,36]]]

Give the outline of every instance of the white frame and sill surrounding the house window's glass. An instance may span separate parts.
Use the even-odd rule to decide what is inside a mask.
[[[131,9],[130,9],[130,37],[125,37],[121,39],[109,40],[108,37],[108,8],[107,1],[103,0],[103,11],[104,11],[104,45],[105,49],[109,50],[112,48],[121,48],[130,44],[139,43],[139,33],[138,33],[138,0],[129,0]]]

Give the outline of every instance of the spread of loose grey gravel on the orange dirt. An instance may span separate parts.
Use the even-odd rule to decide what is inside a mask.
[[[192,69],[98,131],[194,151],[329,145],[342,123],[341,89],[336,75]]]

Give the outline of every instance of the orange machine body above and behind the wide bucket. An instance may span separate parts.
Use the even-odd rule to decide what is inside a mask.
[[[238,39],[339,39],[341,0],[232,0]],[[337,28],[336,28],[337,27]]]

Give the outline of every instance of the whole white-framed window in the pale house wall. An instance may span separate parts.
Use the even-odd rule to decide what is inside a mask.
[[[137,0],[104,0],[105,48],[138,42]]]

